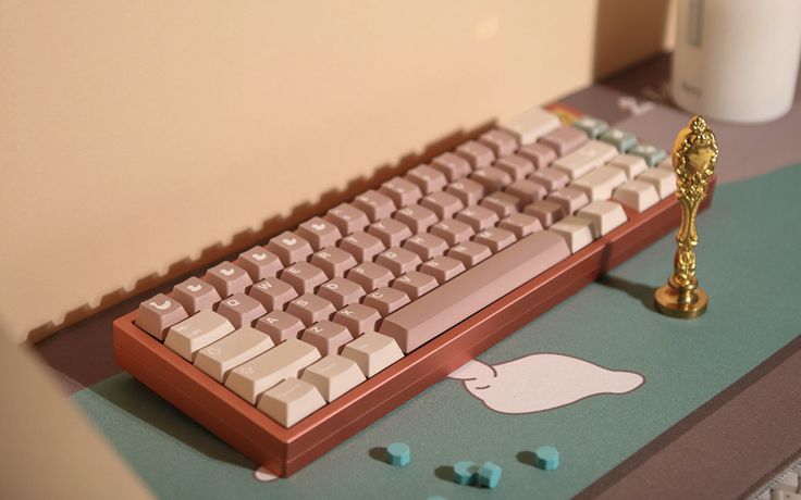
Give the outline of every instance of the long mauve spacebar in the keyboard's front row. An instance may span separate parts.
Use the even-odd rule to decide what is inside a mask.
[[[379,333],[411,352],[568,257],[562,236],[550,230],[529,235],[390,314]]]

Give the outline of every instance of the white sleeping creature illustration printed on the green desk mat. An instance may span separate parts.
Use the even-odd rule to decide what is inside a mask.
[[[530,354],[494,366],[472,360],[448,375],[501,413],[534,413],[590,396],[630,392],[645,380],[639,373],[606,370],[563,354]]]

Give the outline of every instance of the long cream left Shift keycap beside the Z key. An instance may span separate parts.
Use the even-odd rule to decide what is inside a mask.
[[[289,338],[232,370],[225,379],[225,387],[250,404],[256,404],[260,393],[285,378],[297,377],[303,368],[320,358],[316,347]]]

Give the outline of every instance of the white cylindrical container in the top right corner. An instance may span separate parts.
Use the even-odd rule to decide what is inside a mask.
[[[717,120],[776,120],[792,105],[801,0],[679,0],[673,97]]]

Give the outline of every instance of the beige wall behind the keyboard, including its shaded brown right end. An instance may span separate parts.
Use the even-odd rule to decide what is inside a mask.
[[[666,3],[0,0],[0,322],[41,338],[653,54]]]

